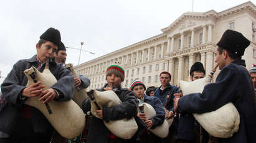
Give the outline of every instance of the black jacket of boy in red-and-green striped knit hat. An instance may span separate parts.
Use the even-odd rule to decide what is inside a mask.
[[[105,85],[103,88],[105,88]],[[103,88],[100,88],[98,91],[105,91]],[[103,119],[98,119],[95,116],[92,117],[92,121],[89,125],[88,131],[88,143],[97,142],[97,143],[105,143],[108,142],[110,131],[107,129],[104,121],[115,121],[118,119],[130,119],[137,115],[138,109],[138,101],[135,98],[135,95],[132,91],[128,90],[128,88],[121,88],[115,91],[118,98],[122,101],[121,104],[111,107],[103,107]],[[82,109],[84,113],[90,111],[90,100],[85,99],[82,103]]]

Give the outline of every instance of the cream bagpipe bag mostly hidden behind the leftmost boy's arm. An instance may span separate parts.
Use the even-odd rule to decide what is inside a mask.
[[[65,65],[65,68],[69,69],[75,78],[79,78],[79,76],[73,69],[72,63],[67,63]],[[86,92],[85,88],[75,87],[75,92],[73,94],[73,101],[75,101],[75,103],[77,103],[81,107],[83,100],[85,100],[87,97],[88,96],[87,96],[87,92]]]

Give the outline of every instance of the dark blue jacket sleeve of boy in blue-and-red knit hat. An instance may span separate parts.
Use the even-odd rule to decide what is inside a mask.
[[[164,112],[163,104],[161,103],[161,101],[154,96],[144,95],[144,102],[150,104],[156,111],[156,115],[152,119],[153,126],[151,127],[151,129],[154,129],[155,127],[163,124],[165,112]]]

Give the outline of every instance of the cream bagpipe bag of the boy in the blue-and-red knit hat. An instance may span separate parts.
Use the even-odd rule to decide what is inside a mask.
[[[144,106],[144,113],[146,114],[146,119],[153,119],[154,116],[156,115],[156,111],[154,110],[154,108],[148,104],[148,103],[142,103]],[[138,113],[140,112],[140,109],[138,108]],[[169,124],[166,121],[166,119],[164,119],[163,124],[161,124],[160,126],[157,126],[154,129],[149,129],[149,131],[151,131],[153,134],[155,134],[158,137],[164,138],[168,136],[169,133]]]

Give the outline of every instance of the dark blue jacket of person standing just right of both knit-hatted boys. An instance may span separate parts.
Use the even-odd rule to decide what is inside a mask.
[[[173,106],[173,99],[174,99],[174,93],[179,93],[179,88],[173,85],[168,85],[164,90],[160,90],[161,86],[154,91],[154,96],[159,98],[162,104],[164,105],[166,101],[166,96],[169,95],[167,104],[166,104],[166,109],[168,111],[174,111],[174,106]]]

